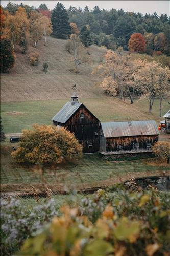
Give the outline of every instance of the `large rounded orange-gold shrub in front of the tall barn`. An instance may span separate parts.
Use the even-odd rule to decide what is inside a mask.
[[[74,134],[63,127],[33,125],[32,130],[22,130],[20,147],[12,152],[18,163],[60,164],[82,154],[82,147]]]

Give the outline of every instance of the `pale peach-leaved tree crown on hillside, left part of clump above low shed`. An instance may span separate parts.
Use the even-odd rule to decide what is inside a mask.
[[[105,93],[115,96],[116,92],[120,99],[130,98],[133,104],[136,96],[141,96],[143,90],[138,83],[138,71],[144,66],[140,59],[132,60],[128,55],[122,55],[121,51],[115,53],[108,50],[105,59],[94,72],[99,72],[104,79],[101,87]]]

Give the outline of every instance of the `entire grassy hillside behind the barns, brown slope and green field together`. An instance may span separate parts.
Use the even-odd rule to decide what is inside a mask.
[[[120,100],[103,94],[96,84],[101,78],[91,71],[97,66],[106,52],[98,46],[88,49],[90,64],[79,67],[80,73],[70,70],[74,68],[72,56],[65,50],[66,40],[47,38],[47,46],[39,41],[37,49],[31,42],[26,54],[16,49],[16,64],[9,74],[1,74],[1,116],[5,133],[20,133],[33,123],[52,124],[51,118],[70,99],[71,87],[76,83],[80,102],[84,103],[102,122],[159,119],[159,102],[155,100],[152,114],[148,113],[148,100],[139,99],[130,104],[130,100]],[[40,55],[39,65],[31,66],[29,56],[33,52]],[[49,64],[45,74],[43,62]],[[164,100],[162,114],[169,109]]]

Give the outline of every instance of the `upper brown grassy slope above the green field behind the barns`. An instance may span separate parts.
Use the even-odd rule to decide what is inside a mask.
[[[38,42],[36,49],[30,43],[25,55],[16,49],[15,66],[9,74],[1,74],[1,101],[68,98],[74,84],[77,84],[80,97],[99,97],[101,90],[95,85],[99,77],[92,75],[91,71],[101,61],[106,50],[90,46],[90,64],[81,65],[80,73],[75,74],[70,71],[74,65],[71,54],[65,50],[65,44],[66,40],[48,37],[47,46],[44,46],[43,40]],[[30,65],[29,56],[33,52],[39,53],[38,66]],[[48,62],[47,74],[42,71],[43,62]]]

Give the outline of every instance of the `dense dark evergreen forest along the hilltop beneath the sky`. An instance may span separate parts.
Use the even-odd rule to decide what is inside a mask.
[[[121,46],[124,50],[128,50],[128,42],[132,34],[140,33],[143,35],[146,46],[144,52],[153,54],[170,55],[170,17],[166,14],[158,16],[156,12],[153,14],[145,14],[135,12],[125,12],[122,9],[101,10],[99,6],[95,6],[90,10],[88,6],[79,9],[70,6],[68,10],[61,3],[50,11],[45,4],[40,4],[38,8],[23,4],[13,4],[9,2],[4,10],[14,15],[18,8],[25,8],[26,13],[30,16],[32,11],[40,12],[51,18],[53,25],[52,36],[64,38],[59,33],[56,34],[55,13],[59,9],[63,20],[68,23],[74,23],[79,31],[89,25],[92,44],[105,45],[108,49],[115,50]],[[63,16],[64,15],[64,16]],[[70,35],[69,27],[66,29],[66,35]]]

